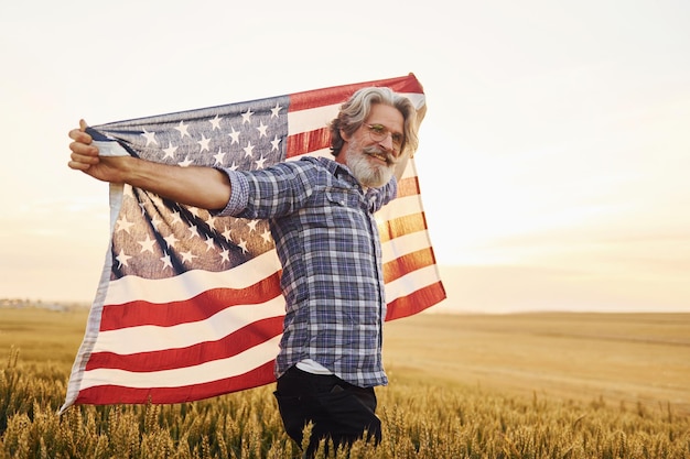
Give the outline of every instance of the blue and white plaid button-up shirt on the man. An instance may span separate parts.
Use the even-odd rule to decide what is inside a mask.
[[[325,157],[223,171],[233,193],[220,215],[269,219],[282,263],[287,306],[276,375],[313,359],[360,387],[387,384],[374,212],[396,197],[396,181],[364,193],[347,167]]]

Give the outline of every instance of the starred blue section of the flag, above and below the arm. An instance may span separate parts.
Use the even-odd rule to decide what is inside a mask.
[[[269,105],[257,112],[247,103],[233,114],[217,111],[203,119],[177,118],[165,132],[153,123],[139,125],[132,143],[155,154],[159,162],[182,167],[205,162],[235,171],[265,170],[280,161],[278,154],[288,142],[285,125],[280,123],[288,108],[276,99],[269,103],[273,108]],[[129,185],[123,193],[129,207],[114,223],[110,256],[115,276],[136,274],[137,270],[147,271],[152,278],[195,269],[220,271],[235,265],[238,258],[273,247],[266,220],[216,218],[205,209],[176,205]]]

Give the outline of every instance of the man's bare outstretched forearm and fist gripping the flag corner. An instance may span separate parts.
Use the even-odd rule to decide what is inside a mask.
[[[87,124],[69,131],[73,142],[67,164],[99,181],[126,183],[155,193],[175,203],[203,209],[223,209],[230,197],[227,176],[212,167],[180,167],[153,163],[132,156],[99,156],[98,147],[85,132]]]

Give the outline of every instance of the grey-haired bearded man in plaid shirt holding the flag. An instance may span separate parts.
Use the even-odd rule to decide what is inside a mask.
[[[85,129],[69,132],[73,170],[219,216],[269,219],[285,297],[274,392],[285,431],[301,444],[313,424],[306,456],[324,438],[380,441],[374,387],[388,383],[386,298],[374,212],[396,197],[417,149],[413,105],[388,88],[360,89],[331,123],[335,160],[251,172],[100,157]]]

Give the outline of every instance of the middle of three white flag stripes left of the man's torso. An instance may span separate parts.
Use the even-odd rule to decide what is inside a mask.
[[[233,306],[204,320],[171,327],[142,325],[98,334],[93,352],[131,354],[217,341],[257,320],[285,314],[282,295],[260,305]],[[115,306],[117,307],[117,306]]]

